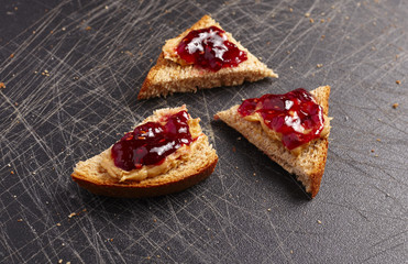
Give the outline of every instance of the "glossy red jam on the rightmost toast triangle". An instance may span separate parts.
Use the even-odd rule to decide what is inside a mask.
[[[238,112],[242,117],[258,112],[267,128],[282,134],[282,143],[288,150],[320,138],[324,128],[323,109],[304,88],[244,100]]]

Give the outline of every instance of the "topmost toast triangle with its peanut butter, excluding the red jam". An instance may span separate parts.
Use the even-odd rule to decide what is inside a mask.
[[[245,47],[236,42],[227,32],[228,40],[234,43],[240,50],[247,53],[247,59],[236,67],[221,68],[218,72],[202,69],[194,65],[179,64],[179,57],[175,53],[178,43],[192,30],[221,25],[209,15],[202,16],[190,29],[183,32],[179,36],[168,40],[162,48],[157,64],[151,68],[146,79],[139,92],[137,99],[167,96],[173,92],[196,91],[197,88],[213,88],[220,86],[236,86],[244,80],[256,81],[265,77],[278,76],[265,64],[261,63]]]

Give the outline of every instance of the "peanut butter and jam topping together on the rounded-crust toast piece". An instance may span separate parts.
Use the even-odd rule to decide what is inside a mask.
[[[118,182],[140,182],[165,174],[180,163],[188,161],[194,152],[196,140],[202,132],[199,125],[200,119],[190,119],[188,114],[180,113],[181,111],[177,113],[176,118],[176,114],[166,117],[159,122],[146,122],[136,127],[133,132],[126,133],[121,140],[124,141],[124,145],[118,144],[121,142],[119,141],[102,154],[101,167]],[[178,133],[183,135],[177,136]],[[132,140],[136,142],[129,145],[128,143]],[[153,145],[146,146],[144,141],[150,141],[150,144]],[[114,147],[121,151],[119,154],[122,156],[119,156],[119,162],[118,151],[117,154],[113,152]],[[123,151],[123,147],[130,148]],[[150,152],[146,153],[146,150]],[[137,155],[139,153],[141,155]],[[123,158],[123,156],[129,157],[130,155],[130,161]]]

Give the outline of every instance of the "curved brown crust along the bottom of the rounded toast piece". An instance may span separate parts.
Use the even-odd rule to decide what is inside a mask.
[[[89,180],[87,175],[79,175],[77,173],[71,174],[71,178],[80,187],[89,190],[95,195],[110,196],[110,197],[123,197],[123,198],[142,198],[142,197],[154,197],[181,191],[187,189],[201,180],[206,179],[212,174],[216,168],[218,157],[212,161],[207,167],[196,174],[188,175],[178,180],[167,182],[165,184],[143,185],[140,183],[96,183]]]

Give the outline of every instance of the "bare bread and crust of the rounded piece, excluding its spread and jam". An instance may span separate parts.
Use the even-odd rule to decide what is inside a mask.
[[[157,121],[163,116],[181,110],[186,110],[186,108],[156,110],[142,123]],[[106,155],[110,156],[111,147],[85,162],[79,162],[74,168],[71,177],[80,187],[96,195],[140,198],[177,193],[206,179],[214,170],[218,162],[216,150],[209,144],[208,138],[203,133],[191,142],[189,147],[190,155],[188,158],[183,158],[183,162],[176,167],[143,180],[121,182],[107,173],[101,163]]]

